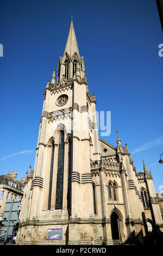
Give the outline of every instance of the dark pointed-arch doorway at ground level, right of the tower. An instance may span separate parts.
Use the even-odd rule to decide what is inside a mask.
[[[120,235],[120,220],[116,211],[113,211],[111,214],[111,235],[112,240],[121,240]]]

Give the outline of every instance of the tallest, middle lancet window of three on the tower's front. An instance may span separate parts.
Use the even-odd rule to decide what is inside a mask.
[[[64,180],[64,131],[60,131],[58,143],[58,166],[57,166],[57,186],[55,197],[55,209],[62,209]]]

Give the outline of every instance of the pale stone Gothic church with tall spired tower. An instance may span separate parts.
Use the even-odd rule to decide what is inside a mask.
[[[63,57],[43,93],[34,170],[24,180],[18,245],[144,244],[163,223],[151,172],[137,173],[118,131],[117,147],[98,136],[71,21]]]

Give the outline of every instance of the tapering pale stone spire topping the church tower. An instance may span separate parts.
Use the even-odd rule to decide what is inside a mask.
[[[76,39],[76,34],[74,32],[74,27],[73,27],[73,22],[71,20],[71,26],[70,26],[70,31],[68,34],[67,42],[66,42],[66,47],[65,47],[65,53],[68,53],[69,57],[71,58],[73,54],[76,52],[78,57],[79,55],[79,50],[78,50],[78,44],[77,44],[77,39]]]

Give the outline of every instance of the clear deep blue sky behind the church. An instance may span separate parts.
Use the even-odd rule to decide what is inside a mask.
[[[71,15],[97,111],[111,111],[137,172],[163,185],[162,29],[155,1],[3,1],[0,10],[0,173],[34,168],[43,92],[64,53]],[[100,133],[99,133],[100,136]]]

